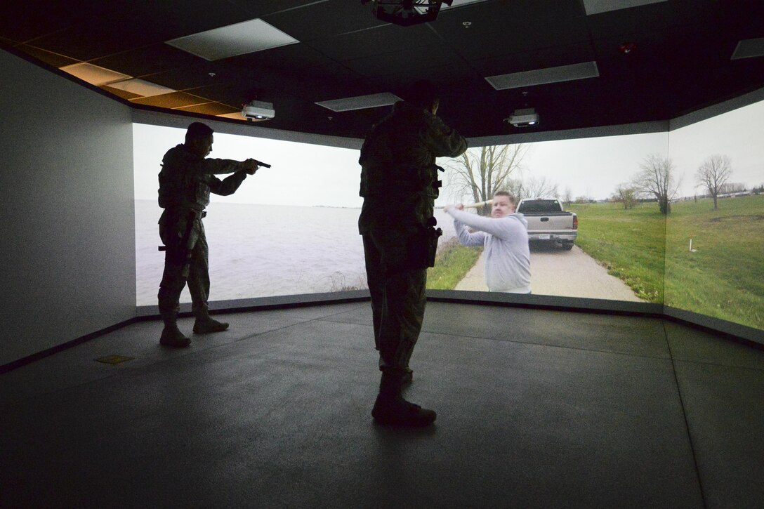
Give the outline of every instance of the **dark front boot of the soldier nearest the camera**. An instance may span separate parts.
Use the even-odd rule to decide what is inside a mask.
[[[434,410],[410,403],[401,396],[403,373],[384,372],[380,381],[380,394],[374,402],[371,417],[385,426],[424,427],[435,422]]]

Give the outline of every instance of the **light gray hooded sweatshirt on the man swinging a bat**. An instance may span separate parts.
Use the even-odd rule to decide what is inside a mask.
[[[528,222],[523,214],[482,217],[448,209],[461,245],[484,247],[485,284],[492,292],[530,293]],[[471,226],[478,232],[470,233]]]

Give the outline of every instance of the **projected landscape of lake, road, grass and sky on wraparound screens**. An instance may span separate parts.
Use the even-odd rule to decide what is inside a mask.
[[[762,329],[764,149],[736,135],[760,131],[762,110],[756,103],[670,133],[476,147],[468,157],[504,151],[502,189],[558,199],[578,216],[572,249],[532,244],[534,294],[665,303]],[[747,127],[731,131],[730,122]],[[156,179],[183,130],[135,125],[134,139],[138,305],[154,305],[163,264]],[[365,288],[358,151],[216,134],[211,157],[273,164],[208,207],[211,300]],[[465,177],[468,160],[439,164],[447,172],[436,206],[490,198]],[[704,179],[709,171],[724,177],[718,185]],[[480,250],[458,245],[442,210],[436,218],[444,235],[429,287],[486,291]]]

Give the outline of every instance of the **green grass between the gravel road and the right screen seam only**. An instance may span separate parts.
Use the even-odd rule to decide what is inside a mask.
[[[571,204],[578,214],[576,245],[620,277],[640,299],[663,302],[665,216],[656,204]]]

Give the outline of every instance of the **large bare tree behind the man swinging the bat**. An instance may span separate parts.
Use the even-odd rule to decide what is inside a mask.
[[[469,148],[448,164],[452,170],[448,186],[460,199],[471,196],[475,202],[487,201],[496,191],[510,189],[527,151],[522,143]],[[483,207],[484,214],[489,211],[490,206]]]

